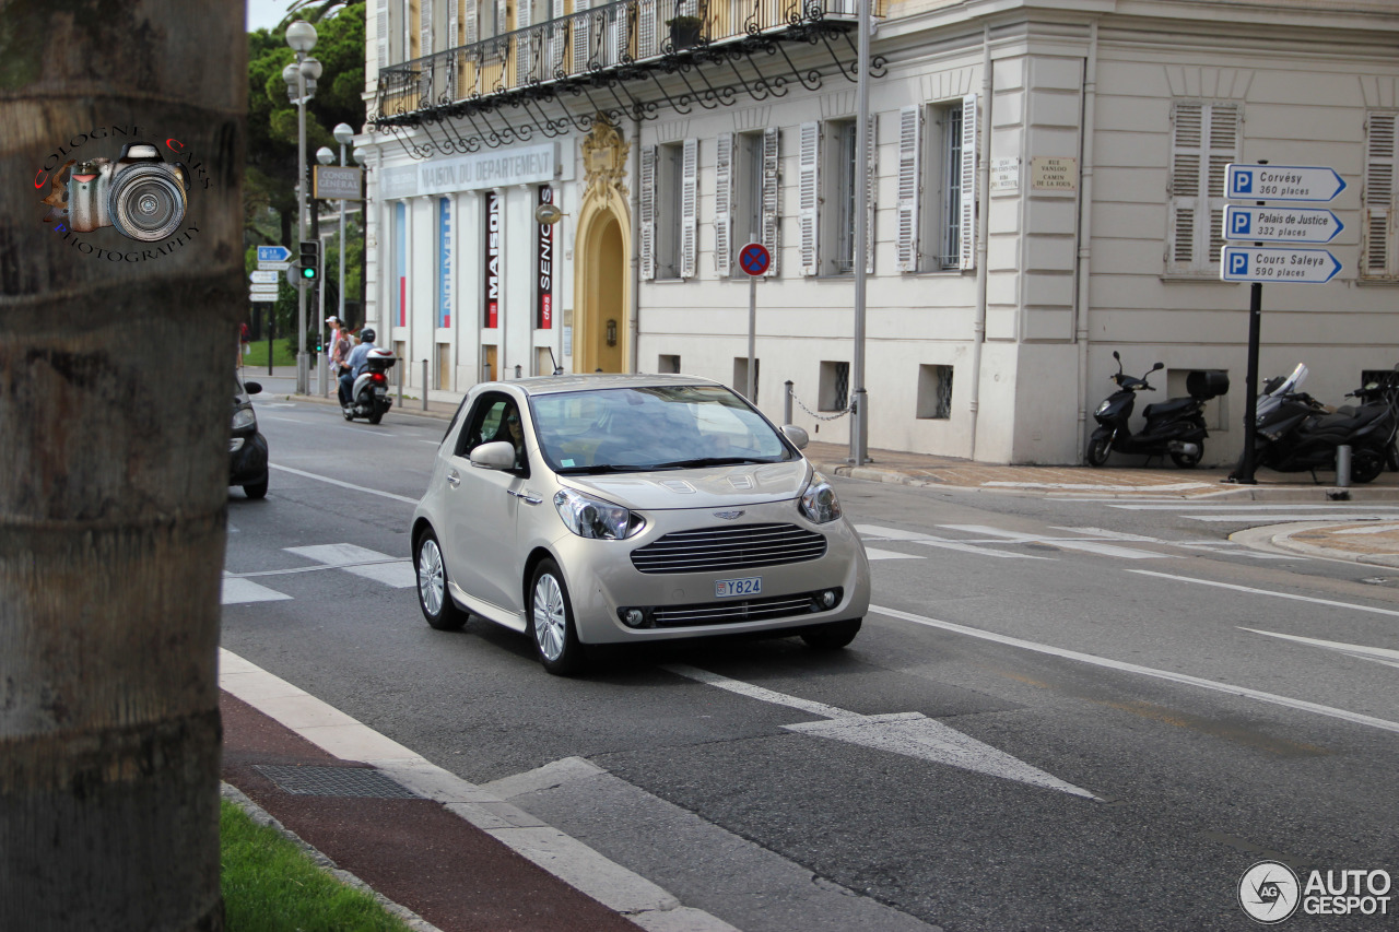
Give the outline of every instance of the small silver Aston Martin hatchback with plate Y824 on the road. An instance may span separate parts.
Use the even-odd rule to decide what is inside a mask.
[[[582,669],[589,644],[786,631],[842,648],[869,560],[806,441],[686,375],[477,385],[413,515],[422,614],[529,633],[550,673]]]

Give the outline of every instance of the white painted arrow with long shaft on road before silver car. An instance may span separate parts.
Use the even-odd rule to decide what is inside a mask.
[[[729,690],[730,693],[737,693],[739,696],[755,698],[762,702],[802,709],[803,712],[820,715],[825,719],[821,722],[783,725],[782,728],[789,732],[814,735],[817,737],[830,737],[832,740],[859,744],[862,747],[874,747],[893,754],[902,754],[905,757],[916,757],[936,764],[958,767],[961,770],[970,770],[988,777],[1013,779],[1016,782],[1041,786],[1044,789],[1056,789],[1059,792],[1081,796],[1084,799],[1097,799],[1097,796],[1087,789],[1067,784],[1058,777],[1046,774],[1038,767],[1027,764],[1018,757],[1011,757],[1010,754],[997,750],[990,744],[978,742],[975,737],[964,735],[957,729],[939,722],[937,719],[928,718],[922,712],[860,715],[859,712],[851,712],[849,709],[837,708],[824,702],[813,702],[810,700],[797,698],[785,693],[774,693],[772,690],[761,686],[733,680],[727,676],[719,676],[718,673],[701,670],[694,666],[669,663],[662,669],[676,673],[677,676],[697,680],[706,686],[715,686],[720,690]]]

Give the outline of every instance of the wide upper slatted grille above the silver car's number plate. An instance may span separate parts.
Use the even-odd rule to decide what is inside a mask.
[[[641,572],[727,572],[825,556],[825,537],[796,525],[677,530],[631,551]]]

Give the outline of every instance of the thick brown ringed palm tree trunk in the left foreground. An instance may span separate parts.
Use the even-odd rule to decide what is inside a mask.
[[[217,931],[243,4],[0,7],[0,929]],[[176,234],[41,221],[125,143]]]

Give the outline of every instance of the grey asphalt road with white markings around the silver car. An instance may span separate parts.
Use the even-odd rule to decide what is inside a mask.
[[[229,490],[224,647],[746,932],[1241,929],[1260,859],[1399,873],[1399,572],[1228,540],[1295,507],[842,480],[876,557],[851,648],[560,679],[418,613],[443,421],[257,413],[271,490]]]

